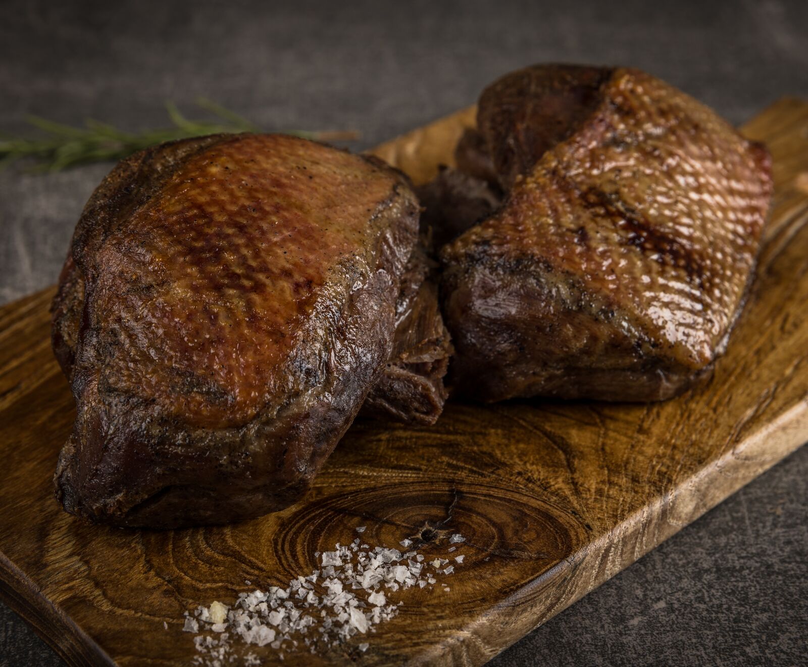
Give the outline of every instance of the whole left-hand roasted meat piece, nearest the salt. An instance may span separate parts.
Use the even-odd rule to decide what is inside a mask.
[[[296,137],[120,163],[53,304],[77,405],[55,477],[65,509],[172,528],[297,500],[393,351],[418,216],[397,171]]]

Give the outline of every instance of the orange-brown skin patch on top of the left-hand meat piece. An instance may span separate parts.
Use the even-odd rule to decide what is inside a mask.
[[[117,390],[199,425],[249,420],[326,281],[367,272],[371,209],[395,177],[291,137],[222,141],[187,160],[106,239],[88,290]],[[341,196],[361,182],[364,196]],[[375,202],[375,203],[374,203]],[[368,248],[364,248],[367,251]]]

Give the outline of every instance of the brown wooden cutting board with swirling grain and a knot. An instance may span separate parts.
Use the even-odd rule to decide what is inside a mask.
[[[467,109],[376,152],[420,182],[472,124]],[[356,423],[304,501],[238,526],[114,530],[63,513],[51,478],[74,409],[48,341],[53,289],[5,306],[3,599],[71,664],[188,663],[185,610],[286,585],[356,526],[396,547],[440,525],[427,558],[446,535],[466,537],[448,592],[391,595],[401,613],[375,634],[285,662],[487,661],[808,440],[808,103],[781,100],[744,132],[772,150],[776,196],[750,302],[709,384],[651,405],[450,403],[431,428]]]

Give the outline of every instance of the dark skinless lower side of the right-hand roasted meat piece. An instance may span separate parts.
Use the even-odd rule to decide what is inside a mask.
[[[563,298],[558,284],[564,285]],[[712,365],[694,374],[666,361],[659,344],[630,322],[620,327],[625,335],[604,336],[617,313],[587,294],[574,276],[533,257],[495,259],[486,243],[476,244],[463,261],[444,269],[441,293],[449,319],[452,313],[472,313],[476,302],[488,303],[494,296],[502,305],[486,317],[465,317],[465,327],[453,337],[457,353],[448,384],[466,399],[529,398],[540,388],[540,395],[559,399],[660,401],[712,376]],[[520,299],[531,304],[531,313],[514,312],[508,305]],[[565,344],[566,326],[579,331],[579,337]],[[479,340],[490,344],[481,348]],[[579,347],[568,349],[570,342]],[[582,354],[604,365],[581,366],[576,362]]]

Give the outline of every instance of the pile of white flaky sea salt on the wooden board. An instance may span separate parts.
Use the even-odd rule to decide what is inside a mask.
[[[361,530],[360,530],[361,529]],[[356,530],[363,532],[365,526]],[[449,542],[463,542],[453,534]],[[409,538],[399,542],[405,549]],[[454,551],[452,547],[449,551]],[[364,551],[367,550],[367,551]],[[374,632],[398,614],[403,602],[390,602],[390,595],[415,586],[425,589],[436,584],[436,576],[448,576],[454,566],[448,559],[436,557],[428,563],[417,551],[373,547],[355,539],[347,546],[335,545],[332,551],[317,552],[319,569],[308,576],[297,576],[286,587],[270,586],[266,591],[241,593],[233,606],[212,602],[185,614],[183,630],[193,632],[199,653],[197,665],[225,667],[237,661],[234,650],[242,646],[269,646],[284,652],[328,651],[343,645],[355,635]],[[459,564],[463,556],[455,557]],[[427,573],[427,565],[431,570]],[[442,585],[444,591],[450,589]],[[234,644],[238,641],[238,645]],[[366,651],[369,644],[358,644]],[[241,656],[242,664],[258,665],[255,653]]]

